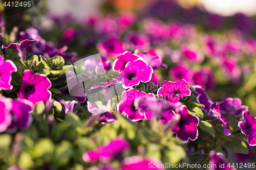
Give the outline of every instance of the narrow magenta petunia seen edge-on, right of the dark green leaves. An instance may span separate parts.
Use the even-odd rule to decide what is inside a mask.
[[[212,115],[217,119],[221,121],[221,126],[223,127],[223,133],[224,135],[231,135],[231,133],[229,132],[229,124],[228,121],[226,120],[226,118],[223,116],[223,114],[220,111],[219,106],[217,105],[217,102],[214,102],[210,105],[210,109],[212,111]]]

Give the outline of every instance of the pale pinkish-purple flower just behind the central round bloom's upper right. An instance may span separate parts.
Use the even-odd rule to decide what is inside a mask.
[[[156,56],[156,54],[154,53],[142,53],[138,50],[136,50],[134,53],[142,57],[153,69],[157,69],[160,67],[167,68],[167,65],[162,63],[162,57]]]

